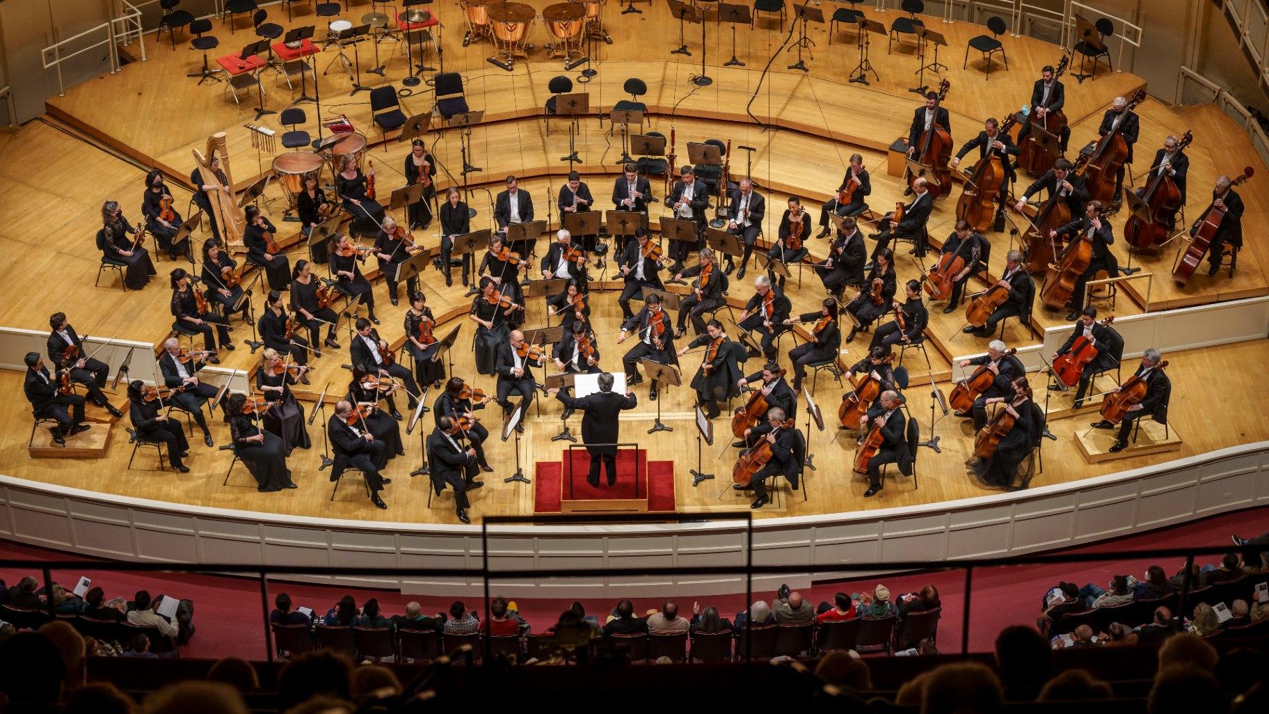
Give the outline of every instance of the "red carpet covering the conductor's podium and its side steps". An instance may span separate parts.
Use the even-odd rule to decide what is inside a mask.
[[[634,451],[621,450],[617,452],[617,484],[608,487],[608,476],[603,469],[599,471],[599,487],[595,488],[586,482],[590,473],[590,455],[585,448],[572,451],[572,495],[579,501],[603,501],[605,498],[636,498],[634,495]],[[538,461],[536,478],[533,479],[533,511],[536,513],[558,513],[560,499],[567,495],[563,470],[563,459],[569,450],[561,455],[560,461]],[[638,451],[640,462],[647,459],[647,451]],[[646,489],[646,490],[645,490]],[[640,484],[640,497],[648,497],[648,511],[674,511],[674,461],[648,461],[647,484]]]

